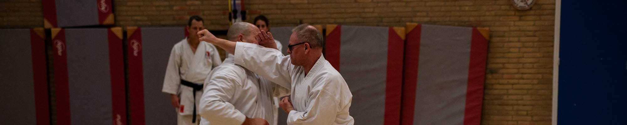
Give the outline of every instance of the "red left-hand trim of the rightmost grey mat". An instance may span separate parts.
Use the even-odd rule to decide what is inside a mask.
[[[401,105],[401,124],[414,124],[416,101],[416,83],[418,82],[418,63],[422,24],[418,24],[406,35],[403,64],[403,104]]]

